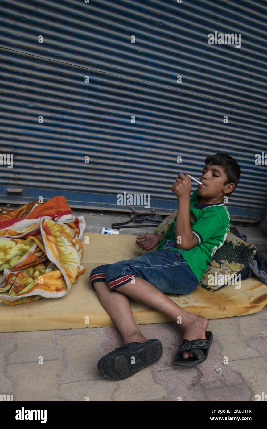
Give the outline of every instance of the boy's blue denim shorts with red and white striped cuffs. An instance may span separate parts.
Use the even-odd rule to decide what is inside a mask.
[[[163,293],[187,294],[198,286],[198,279],[178,251],[156,250],[137,258],[100,265],[90,273],[90,282],[105,281],[110,290],[139,277]],[[94,287],[93,287],[94,289]]]

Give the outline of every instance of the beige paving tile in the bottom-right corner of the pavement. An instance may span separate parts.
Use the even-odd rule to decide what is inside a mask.
[[[255,395],[261,395],[261,392],[267,394],[267,365],[266,360],[258,359],[240,359],[229,362],[229,366],[234,371],[240,372],[244,382],[252,391],[250,401],[255,401]]]

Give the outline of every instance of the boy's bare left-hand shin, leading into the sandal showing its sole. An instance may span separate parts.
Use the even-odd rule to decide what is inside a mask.
[[[103,307],[119,329],[123,344],[148,341],[135,323],[127,296],[123,293],[111,292],[105,281],[96,281],[93,285]]]

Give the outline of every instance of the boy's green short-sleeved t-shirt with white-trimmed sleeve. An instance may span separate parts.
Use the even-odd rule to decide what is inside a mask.
[[[230,230],[230,214],[225,203],[198,204],[200,199],[201,196],[196,189],[190,198],[189,216],[192,233],[197,238],[198,245],[189,250],[177,249],[175,218],[156,249],[181,252],[183,259],[198,279],[198,283],[216,250],[225,242]]]

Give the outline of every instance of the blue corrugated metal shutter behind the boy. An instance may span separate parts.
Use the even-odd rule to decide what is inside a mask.
[[[207,155],[226,152],[242,171],[231,216],[260,217],[265,2],[3,0],[0,12],[1,154],[14,154],[0,201],[63,194],[72,207],[129,210],[117,194],[144,193],[169,213],[177,174],[198,178]],[[241,47],[209,45],[215,31],[241,33]]]

